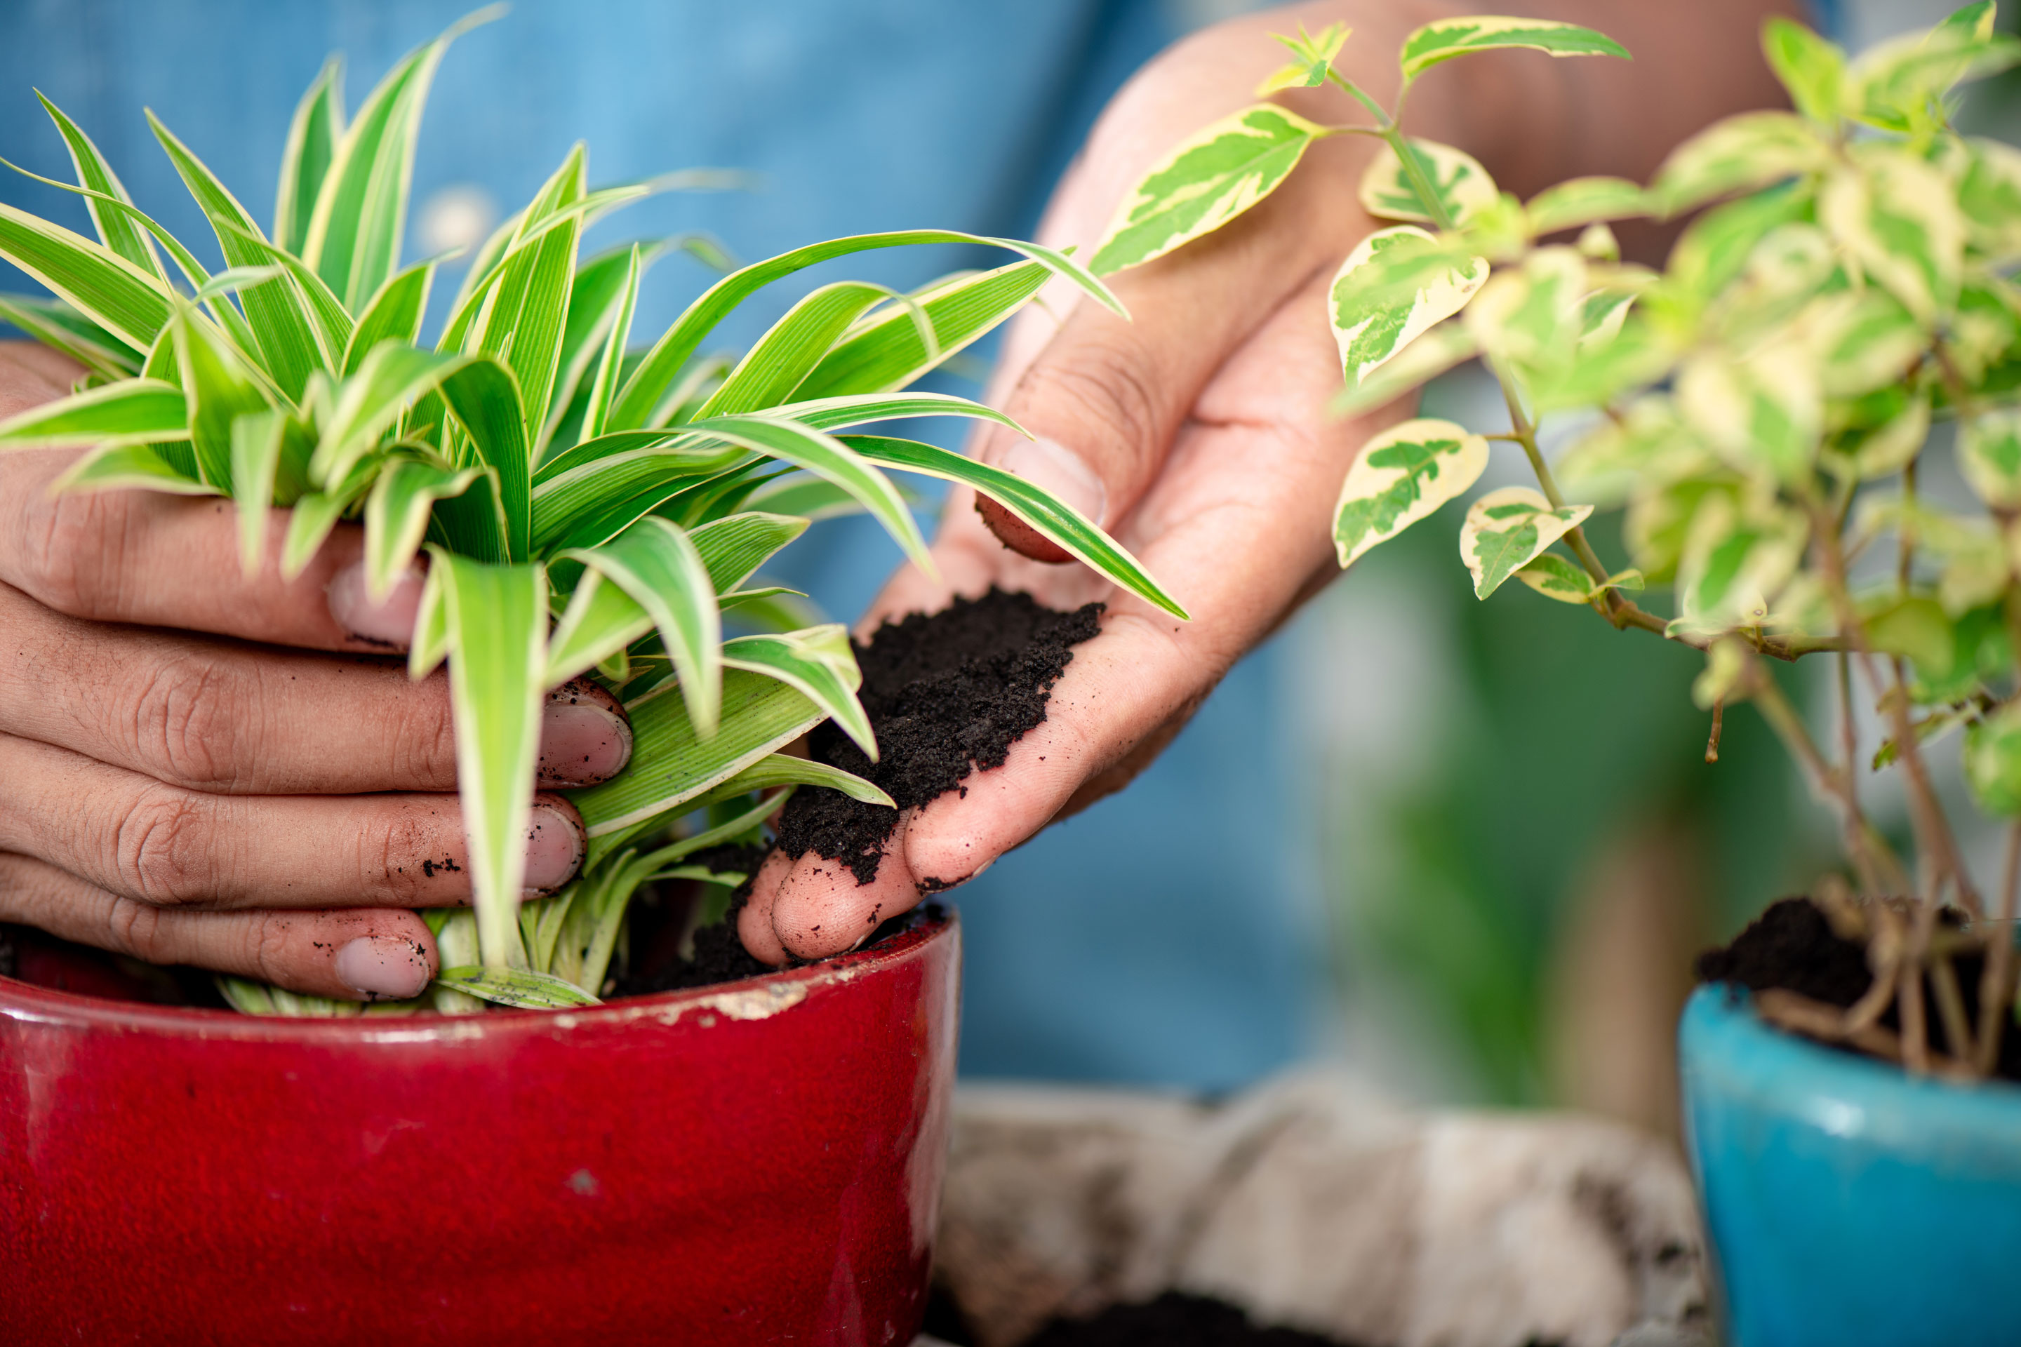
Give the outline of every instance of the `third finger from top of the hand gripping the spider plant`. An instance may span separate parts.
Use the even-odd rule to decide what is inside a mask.
[[[214,796],[8,735],[0,735],[0,850],[160,907],[449,907],[471,899],[455,796]],[[525,889],[562,887],[582,854],[576,808],[536,796]]]

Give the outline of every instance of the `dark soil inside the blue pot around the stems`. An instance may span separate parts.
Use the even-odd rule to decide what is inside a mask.
[[[1979,975],[1985,971],[1985,957],[1960,953],[1950,965],[1958,973],[1958,994],[1964,1000],[1964,1016],[1979,1024]],[[1783,899],[1754,919],[1746,931],[1722,949],[1708,949],[1698,955],[1698,975],[1702,981],[1724,981],[1766,992],[1783,988],[1809,996],[1827,1006],[1851,1006],[1873,983],[1867,971],[1867,951],[1859,941],[1841,939],[1825,913],[1809,899]],[[1932,1020],[1932,1034],[1942,1040],[1942,1028]],[[1882,1026],[1902,1030],[1894,1006],[1882,1016]],[[1827,1044],[1857,1052],[1845,1044]],[[2021,1080],[2021,1024],[2009,1014],[2007,1032],[2001,1036],[2001,1060],[1995,1074]]]

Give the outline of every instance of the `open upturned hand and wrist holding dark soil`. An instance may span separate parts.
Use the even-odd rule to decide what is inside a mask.
[[[1471,57],[1413,93],[1409,131],[1475,153],[1518,196],[1574,174],[1645,178],[1686,133],[1728,111],[1774,105],[1754,50],[1783,0],[1641,6],[1627,0],[1518,4],[1599,26],[1647,61],[1552,63],[1518,53]],[[1055,196],[1041,240],[1081,256],[1126,192],[1176,143],[1255,101],[1281,63],[1269,32],[1344,20],[1336,65],[1388,105],[1394,53],[1417,26],[1471,12],[1431,0],[1326,2],[1219,24],[1148,65],[1110,105]],[[1514,57],[1514,61],[1506,59]],[[1366,123],[1336,89],[1279,99],[1322,125]],[[1079,567],[970,491],[950,495],[934,553],[944,580],[901,569],[877,622],[936,610],[988,586],[1055,608],[1108,604],[1101,632],[1075,650],[1047,721],[1000,769],[901,816],[877,874],[774,852],[760,868],[740,935],[760,959],[821,957],[857,943],[922,891],[980,874],[1049,820],[1120,790],[1184,725],[1229,666],[1336,572],[1332,511],[1358,446],[1403,406],[1332,420],[1340,359],[1326,315],[1340,261],[1376,222],[1358,204],[1378,141],[1334,135],[1261,204],[1215,234],[1112,277],[1134,321],[1077,303],[1055,321],[1019,317],[992,388],[1037,438],[988,428],[978,456],[1027,477],[1103,523],[1184,604],[1174,622]],[[1655,230],[1625,230],[1631,250]],[[998,541],[1000,539],[1000,541]]]

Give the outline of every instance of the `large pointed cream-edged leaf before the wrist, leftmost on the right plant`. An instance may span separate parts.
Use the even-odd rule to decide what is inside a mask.
[[[1271,103],[1194,131],[1116,208],[1089,267],[1105,277],[1215,232],[1275,192],[1322,135],[1326,127]]]

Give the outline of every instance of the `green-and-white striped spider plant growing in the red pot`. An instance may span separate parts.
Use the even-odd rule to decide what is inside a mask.
[[[845,630],[800,626],[790,592],[754,580],[808,515],[845,507],[869,511],[932,572],[885,469],[968,483],[1184,616],[1101,529],[1021,479],[889,434],[837,434],[918,416],[1008,424],[976,402],[905,390],[1053,277],[1118,307],[1063,252],[950,230],[816,242],[728,271],[635,351],[649,263],[669,248],[719,250],[673,238],[582,258],[582,234],[627,202],[705,176],[590,190],[578,145],[477,250],[439,339],[422,341],[445,258],[400,265],[414,141],[447,44],[483,18],[402,59],[354,117],[342,69],[327,65],[289,127],[271,230],[150,117],[216,232],[218,273],[133,206],[46,99],[77,168],[75,184],[53,186],[85,198],[97,238],[0,206],[0,256],[55,295],[0,297],[0,315],[89,372],[73,396],[0,426],[0,448],[89,444],[67,491],[230,497],[247,567],[269,553],[271,507],[289,511],[285,574],[342,519],[364,521],[374,594],[424,553],[408,666],[418,679],[449,662],[475,891],[473,911],[426,913],[445,969],[424,1000],[443,1010],[592,1002],[635,891],[655,876],[742,878],[683,862],[758,836],[780,788],[889,804],[861,778],[780,753],[827,717],[865,753],[877,749]],[[742,357],[703,349],[776,281],[924,244],[986,244],[1021,261],[909,295],[821,285]],[[726,640],[726,612],[754,634]],[[572,794],[588,828],[582,874],[521,903],[542,701],[578,675],[622,699],[633,759]],[[224,990],[253,1012],[360,1010],[238,979]]]

